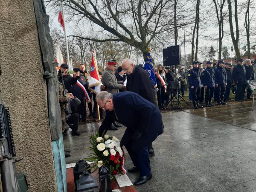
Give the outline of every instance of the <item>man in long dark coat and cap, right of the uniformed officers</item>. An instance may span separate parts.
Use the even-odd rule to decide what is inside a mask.
[[[246,70],[243,64],[244,60],[239,59],[238,64],[234,67],[233,78],[236,83],[236,101],[244,100],[244,90],[246,87]]]

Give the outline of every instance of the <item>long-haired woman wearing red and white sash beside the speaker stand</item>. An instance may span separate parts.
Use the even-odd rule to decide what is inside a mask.
[[[164,108],[164,101],[165,101],[165,92],[166,92],[166,73],[163,70],[163,66],[161,64],[157,65],[156,69],[156,79],[157,79],[157,102],[159,109]],[[162,78],[160,78],[162,77]],[[163,79],[163,81],[161,81]]]

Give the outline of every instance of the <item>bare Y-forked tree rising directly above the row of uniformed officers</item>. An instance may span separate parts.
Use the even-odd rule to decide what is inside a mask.
[[[222,39],[224,37],[224,29],[223,29],[223,23],[224,23],[224,17],[227,13],[223,13],[223,8],[226,0],[212,0],[215,6],[215,12],[217,15],[218,20],[218,59],[221,59],[221,50],[222,50]]]

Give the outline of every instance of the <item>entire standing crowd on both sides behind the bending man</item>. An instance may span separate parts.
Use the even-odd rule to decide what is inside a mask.
[[[223,60],[215,63],[207,61],[205,66],[202,62],[194,61],[187,69],[182,66],[163,67],[158,64],[154,71],[157,87],[154,87],[142,64],[135,65],[127,58],[116,69],[115,60],[107,62],[104,71],[99,71],[102,90],[113,95],[123,91],[138,93],[154,105],[158,103],[159,109],[165,109],[176,94],[184,97],[186,90],[189,91],[189,102],[193,103],[195,109],[212,107],[215,104],[226,105],[231,91],[236,95],[236,101],[242,101],[245,92],[247,99],[251,99],[252,92],[246,89],[246,85],[247,80],[253,80],[256,73],[255,62],[251,62],[250,59],[239,59],[237,64],[226,63]],[[68,68],[67,64],[61,64],[58,70],[62,131],[66,132],[71,128],[72,134],[79,136],[79,122],[87,122],[87,116],[92,119],[98,118],[96,94],[88,89],[90,73],[87,73],[84,64],[73,69],[73,76],[68,73]],[[93,105],[87,101],[86,92],[90,100],[93,100]],[[99,108],[99,117],[102,119],[105,115],[106,113]],[[113,121],[108,129],[118,130],[121,126]],[[148,146],[148,153],[154,156],[152,145]]]

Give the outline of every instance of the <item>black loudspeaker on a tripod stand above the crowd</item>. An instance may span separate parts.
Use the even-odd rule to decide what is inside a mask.
[[[180,46],[163,49],[163,66],[180,65]]]

